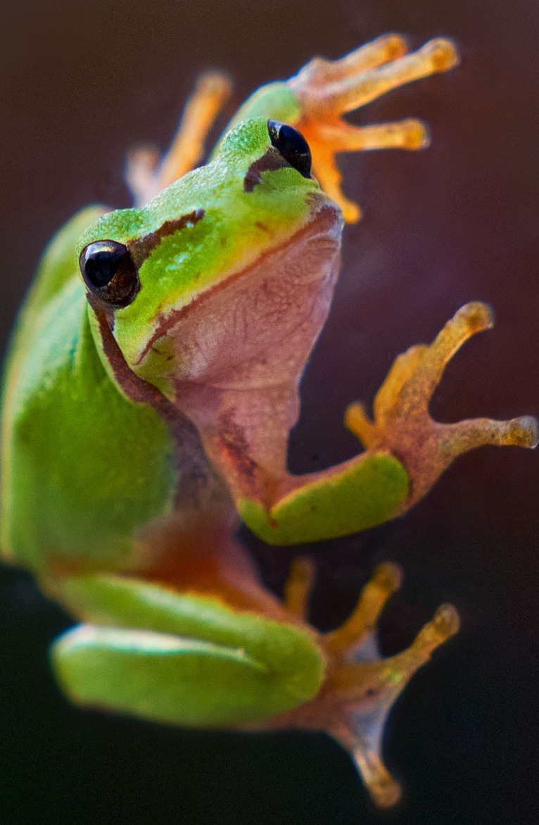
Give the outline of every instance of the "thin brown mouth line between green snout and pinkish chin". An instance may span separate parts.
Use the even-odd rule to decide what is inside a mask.
[[[148,352],[155,346],[156,342],[160,338],[165,337],[167,332],[170,332],[177,323],[180,323],[181,319],[184,318],[186,314],[190,313],[194,309],[195,305],[209,301],[218,292],[227,289],[227,287],[234,281],[239,281],[244,277],[248,277],[251,271],[255,271],[260,266],[264,265],[265,259],[269,259],[276,253],[278,254],[283,252],[287,247],[292,246],[293,244],[301,243],[302,238],[307,238],[313,233],[313,228],[316,229],[316,234],[327,235],[328,238],[333,240],[335,247],[340,247],[340,232],[343,219],[339,208],[332,203],[328,203],[326,197],[321,194],[319,195],[313,192],[310,193],[308,197],[313,211],[311,218],[307,221],[307,224],[304,224],[301,229],[298,229],[298,232],[294,233],[290,238],[287,238],[283,243],[262,252],[255,261],[249,264],[249,266],[245,266],[241,270],[231,271],[230,274],[224,276],[218,284],[210,287],[209,290],[205,290],[203,293],[199,293],[199,295],[195,295],[189,304],[185,304],[180,307],[180,309],[170,309],[166,315],[163,315],[157,322],[157,327],[154,330],[152,337],[148,339],[148,342],[145,344],[141,355],[138,356],[137,361],[134,361],[134,367],[142,364],[148,355]],[[315,210],[314,207],[316,206],[318,206],[318,208]]]

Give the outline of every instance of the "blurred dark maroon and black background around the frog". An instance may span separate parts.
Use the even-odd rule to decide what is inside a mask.
[[[423,117],[434,143],[342,159],[365,217],[345,232],[292,468],[351,455],[345,405],[372,399],[396,353],[432,338],[469,299],[491,302],[497,325],[457,356],[434,413],[537,415],[536,0],[2,3],[2,342],[51,233],[91,200],[128,205],[126,148],[166,147],[201,69],[227,68],[238,103],[313,54],[337,57],[384,31],[413,45],[449,35],[462,65],[355,117]],[[462,615],[462,632],[391,714],[385,753],[405,787],[395,810],[373,809],[323,735],[199,733],[73,709],[46,652],[69,619],[25,573],[4,568],[0,821],[538,823],[537,460],[477,451],[405,519],[314,549],[321,628],[344,619],[382,559],[405,570],[383,616],[384,653],[410,643],[443,601]],[[279,592],[293,554],[246,540]]]

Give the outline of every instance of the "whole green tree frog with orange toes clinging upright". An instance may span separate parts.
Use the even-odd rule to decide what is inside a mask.
[[[166,157],[129,156],[134,207],[90,206],[45,250],[3,391],[2,553],[82,623],[54,643],[63,691],[171,724],[324,730],[382,806],[399,794],[381,757],[387,712],[456,631],[456,610],[380,658],[395,565],[321,634],[307,618],[312,565],[293,564],[280,601],[235,532],[242,521],[275,545],[352,534],[407,511],[466,450],[537,442],[529,417],[429,417],[449,359],[491,325],[472,303],[396,359],[372,420],[349,407],[363,452],[287,469],[344,222],[359,218],[335,154],[428,143],[417,120],[359,128],[342,115],[456,63],[449,40],[409,53],[399,35],[313,59],[255,92],[195,168],[228,93],[204,75]]]

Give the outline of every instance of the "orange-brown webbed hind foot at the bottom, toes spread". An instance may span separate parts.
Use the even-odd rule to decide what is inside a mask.
[[[285,592],[285,605],[305,605],[312,579],[309,563],[293,566]],[[381,564],[359,597],[358,604],[339,629],[321,637],[328,658],[326,682],[316,698],[288,714],[272,727],[293,726],[324,730],[340,742],[354,758],[359,773],[374,802],[382,808],[395,804],[400,786],[382,761],[382,736],[387,715],[411,676],[429,660],[430,653],[455,634],[457,610],[443,605],[433,620],[419,631],[402,653],[380,658],[375,638],[376,624],[383,606],[400,586],[401,571],[396,564]],[[290,594],[293,594],[290,603]],[[302,594],[298,599],[298,594]]]

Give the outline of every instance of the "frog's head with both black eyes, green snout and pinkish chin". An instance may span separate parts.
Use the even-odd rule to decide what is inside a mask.
[[[302,135],[248,120],[148,205],[103,215],[77,252],[101,335],[105,318],[129,368],[171,397],[178,381],[220,381],[266,358],[300,325],[301,370],[326,318],[341,229]]]

